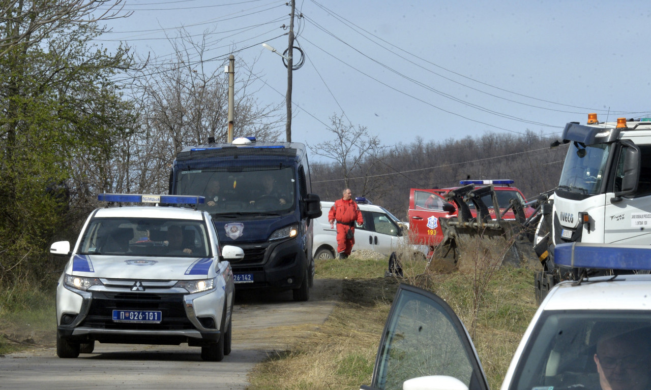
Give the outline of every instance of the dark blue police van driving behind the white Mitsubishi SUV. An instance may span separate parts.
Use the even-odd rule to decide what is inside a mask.
[[[170,194],[205,196],[220,242],[237,245],[232,263],[238,289],[292,290],[309,299],[314,278],[311,194],[305,146],[236,138],[232,144],[189,146],[174,159]]]

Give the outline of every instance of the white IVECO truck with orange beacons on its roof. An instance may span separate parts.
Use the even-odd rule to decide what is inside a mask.
[[[576,279],[580,269],[555,264],[553,248],[566,242],[648,244],[651,238],[651,120],[618,118],[567,123],[568,144],[559,185],[538,224],[536,274],[542,300],[551,285]]]

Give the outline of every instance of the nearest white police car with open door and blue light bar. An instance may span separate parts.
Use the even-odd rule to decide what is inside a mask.
[[[651,389],[651,276],[622,271],[649,270],[651,248],[571,243],[555,251],[559,264],[599,266],[613,276],[564,281],[549,291],[501,389]],[[488,390],[488,383],[449,305],[432,292],[401,285],[372,383],[361,389]]]

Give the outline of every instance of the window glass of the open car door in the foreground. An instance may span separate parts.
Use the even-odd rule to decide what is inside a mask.
[[[454,313],[411,291],[401,291],[396,299],[373,386],[400,390],[410,378],[446,375],[472,388],[473,359],[462,341],[465,330],[451,317]]]

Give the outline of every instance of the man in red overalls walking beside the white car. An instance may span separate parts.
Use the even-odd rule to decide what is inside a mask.
[[[330,212],[328,213],[328,220],[330,221],[330,227],[335,227],[335,221],[337,221],[337,252],[339,253],[340,259],[346,259],[350,252],[353,250],[353,245],[355,244],[355,222],[358,226],[364,223],[364,218],[362,217],[362,212],[359,211],[357,203],[353,200],[353,193],[350,188],[346,188],[343,192],[343,197],[339,200],[335,200],[335,204],[330,207]],[[346,238],[346,233],[351,231],[350,239]]]

